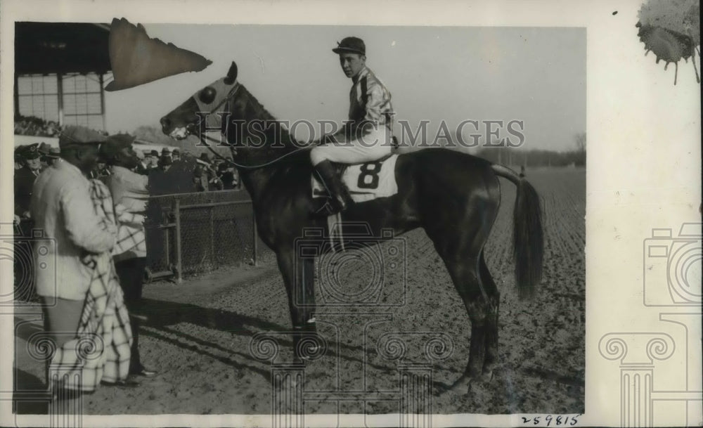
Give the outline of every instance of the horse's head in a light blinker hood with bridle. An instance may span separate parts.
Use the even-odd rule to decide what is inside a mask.
[[[182,140],[191,134],[221,127],[222,117],[228,103],[239,89],[237,64],[233,61],[225,77],[217,79],[193,93],[181,105],[161,118],[161,130],[167,136]]]

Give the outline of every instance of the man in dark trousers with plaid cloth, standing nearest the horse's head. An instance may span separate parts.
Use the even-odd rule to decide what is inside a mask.
[[[105,183],[112,193],[112,202],[115,203],[115,213],[119,222],[117,244],[112,254],[124,291],[124,303],[132,315],[133,342],[129,373],[150,377],[156,372],[141,363],[139,354],[139,327],[144,318],[141,293],[146,268],[144,214],[149,197],[149,178],[132,171],[139,163],[132,143],[134,137],[129,134],[109,136],[101,145],[100,155],[110,166],[110,176],[105,179]]]

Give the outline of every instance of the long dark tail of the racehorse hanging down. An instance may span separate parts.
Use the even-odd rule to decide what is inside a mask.
[[[515,260],[515,286],[520,299],[531,299],[542,279],[544,233],[537,191],[522,174],[502,165],[491,165],[497,176],[517,186],[512,212],[512,257]]]

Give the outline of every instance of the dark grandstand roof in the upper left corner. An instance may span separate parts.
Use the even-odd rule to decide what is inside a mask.
[[[105,74],[109,36],[109,24],[15,22],[15,73]]]

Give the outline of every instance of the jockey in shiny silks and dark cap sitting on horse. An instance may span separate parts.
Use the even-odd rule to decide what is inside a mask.
[[[325,204],[330,214],[344,210],[352,202],[349,190],[331,162],[371,162],[389,155],[393,148],[391,94],[366,67],[363,40],[345,37],[332,51],[339,54],[342,70],[353,84],[349,93],[349,121],[336,134],[323,136],[321,145],[310,152],[315,171],[332,197],[332,207]]]

